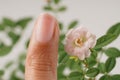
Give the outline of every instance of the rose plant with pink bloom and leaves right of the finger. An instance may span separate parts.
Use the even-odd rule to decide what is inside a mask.
[[[47,1],[44,10],[58,16],[66,10],[60,3],[61,0]],[[112,25],[98,39],[85,27],[76,28],[77,24],[77,20],[71,21],[68,31],[63,33],[64,24],[59,21],[58,80],[120,80],[120,74],[111,74],[120,50],[106,47],[119,37],[120,23]],[[103,54],[107,56],[104,61],[101,60]]]

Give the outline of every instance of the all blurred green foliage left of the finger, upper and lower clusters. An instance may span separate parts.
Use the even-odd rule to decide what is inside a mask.
[[[17,21],[7,17],[4,17],[2,19],[2,22],[0,22],[0,32],[4,32],[10,38],[11,44],[6,45],[6,43],[4,43],[2,39],[0,39],[0,57],[7,56],[7,54],[9,54],[12,51],[15,44],[23,36],[22,35],[23,30],[27,27],[28,23],[30,23],[31,20],[32,20],[31,17],[22,18]],[[16,29],[19,29],[20,33],[16,33],[15,32]],[[23,63],[25,60],[25,55],[26,55],[25,53],[21,54],[19,56],[17,63],[15,61],[8,61],[4,69],[0,70],[0,80],[5,80],[2,77],[5,74],[5,70],[9,70],[9,68],[13,65],[18,65],[18,66],[11,72],[9,76],[10,77],[9,80],[24,80],[23,77],[19,77],[16,74],[17,72],[21,72],[22,74],[24,74]]]

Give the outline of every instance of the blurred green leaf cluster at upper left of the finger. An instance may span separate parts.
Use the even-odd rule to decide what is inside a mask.
[[[20,37],[22,36],[22,31],[25,29],[27,24],[32,20],[32,18],[23,18],[18,21],[13,21],[10,18],[3,18],[2,22],[0,23],[0,31],[4,31],[7,36],[11,39],[11,45],[5,45],[3,41],[0,40],[0,56],[5,56],[14,47],[14,45],[18,42]],[[21,29],[20,34],[15,33],[15,29]]]

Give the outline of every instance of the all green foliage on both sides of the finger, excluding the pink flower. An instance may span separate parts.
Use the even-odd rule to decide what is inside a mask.
[[[67,7],[62,5],[61,2],[63,0],[46,0],[46,5],[43,6],[44,11],[52,12],[56,17],[58,17],[58,13],[65,12]],[[0,23],[0,31],[4,31],[7,33],[8,37],[10,37],[12,44],[5,45],[2,41],[0,41],[0,56],[6,56],[15,44],[19,41],[21,34],[16,34],[14,32],[15,28],[20,28],[21,31],[27,27],[28,23],[32,20],[32,18],[23,18],[18,21],[11,20],[10,18],[3,18]],[[59,21],[60,32],[64,31],[64,28],[67,27],[67,30],[74,28],[77,26],[78,21],[72,20],[67,26],[64,26],[64,23]],[[9,29],[9,30],[6,30]],[[74,61],[70,59],[69,55],[64,51],[64,38],[65,33],[60,34],[59,40],[59,59],[58,59],[58,68],[57,75],[58,80],[96,80],[96,77],[99,74],[99,80],[120,80],[120,74],[110,74],[110,72],[115,68],[117,63],[116,59],[120,57],[120,50],[115,47],[106,47],[114,40],[116,40],[120,35],[120,23],[114,24],[111,26],[105,35],[101,36],[97,39],[96,46],[91,49],[91,56],[86,58],[84,61],[78,60]],[[26,48],[28,47],[29,40],[26,41]],[[24,77],[20,77],[17,74],[21,73],[24,75],[25,71],[25,57],[26,52],[21,53],[17,62],[9,61],[6,63],[4,69],[0,70],[0,80],[4,80],[3,76],[5,74],[5,70],[8,70],[14,64],[17,65],[11,74],[9,80],[24,80]],[[102,54],[107,56],[107,60],[101,62]],[[100,58],[99,58],[100,57]],[[70,69],[70,74],[65,74],[65,69]]]

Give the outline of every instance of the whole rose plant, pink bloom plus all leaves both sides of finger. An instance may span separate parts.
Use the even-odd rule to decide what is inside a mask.
[[[56,18],[59,16],[58,13],[67,10],[67,7],[61,4],[62,0],[45,0],[45,2],[43,10],[53,13]],[[14,33],[14,29],[20,27],[23,31],[30,21],[31,18],[18,21],[9,18],[3,19],[0,23],[0,30],[6,31],[5,28],[9,27],[10,30],[8,31],[10,32],[6,31],[6,33],[11,38],[12,45],[0,44],[1,57],[10,53],[22,37],[22,35]],[[59,19],[58,22],[60,27],[58,80],[120,80],[120,74],[111,73],[120,57],[120,48],[108,47],[110,43],[119,38],[120,22],[112,25],[105,35],[98,39],[85,27],[76,27],[77,20],[71,21],[67,26]],[[67,32],[64,32],[65,27],[67,27]],[[27,49],[29,40],[26,43]],[[11,71],[9,80],[24,80],[24,76],[18,76],[17,73],[21,72],[24,75],[25,53],[26,51],[23,51],[17,61],[8,61],[5,67],[0,69],[0,80],[6,80],[4,79],[6,71],[9,71],[10,67],[14,65],[17,65],[17,67]],[[107,56],[104,61],[101,60],[103,56]]]

